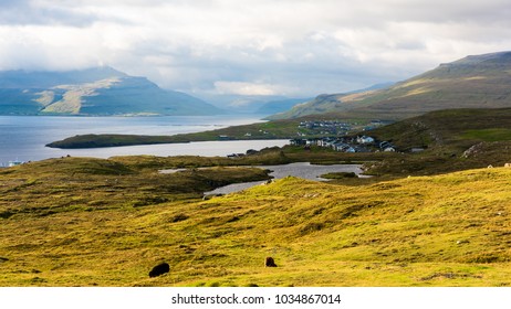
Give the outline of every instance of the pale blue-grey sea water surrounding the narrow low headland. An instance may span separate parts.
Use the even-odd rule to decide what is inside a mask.
[[[207,141],[96,149],[53,149],[46,143],[85,134],[176,135],[261,121],[257,116],[45,117],[0,116],[0,166],[12,160],[35,161],[62,156],[227,156],[248,149],[283,146],[286,140]]]

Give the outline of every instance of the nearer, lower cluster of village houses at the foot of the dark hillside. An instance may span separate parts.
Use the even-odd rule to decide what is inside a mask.
[[[369,136],[295,138],[290,140],[290,145],[303,146],[305,149],[311,146],[319,146],[341,152],[396,151],[396,148],[389,141],[379,141]]]

